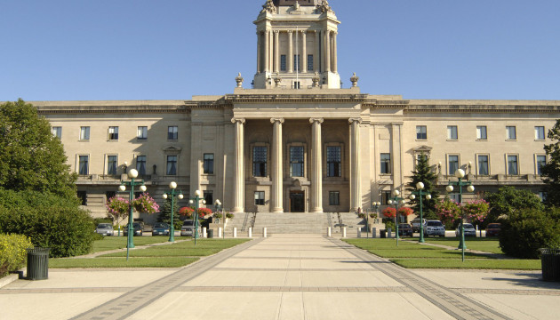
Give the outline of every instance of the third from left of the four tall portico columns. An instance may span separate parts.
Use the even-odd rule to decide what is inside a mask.
[[[323,212],[323,156],[321,143],[321,124],[323,118],[311,118],[311,210],[310,212]]]

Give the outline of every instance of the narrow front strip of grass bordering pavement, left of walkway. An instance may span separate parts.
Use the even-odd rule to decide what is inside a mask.
[[[49,268],[179,268],[187,266],[198,258],[158,257],[158,258],[93,258],[93,259],[51,259]]]

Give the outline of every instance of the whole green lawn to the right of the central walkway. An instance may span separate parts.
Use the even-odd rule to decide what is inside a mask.
[[[413,242],[399,241],[398,246],[395,239],[345,239],[344,241],[380,257],[388,258],[404,268],[540,270],[540,260],[494,259],[492,256],[467,251],[463,262],[460,250],[447,250],[427,244],[418,244],[418,238],[407,239]],[[454,238],[429,238],[427,242],[444,244],[452,248],[459,245],[458,239]],[[468,239],[467,246],[484,252],[501,253],[496,239]]]

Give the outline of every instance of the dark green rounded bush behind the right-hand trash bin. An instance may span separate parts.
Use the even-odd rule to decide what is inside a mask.
[[[560,247],[560,209],[512,211],[501,219],[500,248],[509,256],[538,259],[540,248]]]

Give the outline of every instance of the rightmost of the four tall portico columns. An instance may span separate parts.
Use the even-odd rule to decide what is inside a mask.
[[[361,118],[348,119],[350,124],[350,212],[362,206],[360,180],[360,124]]]

